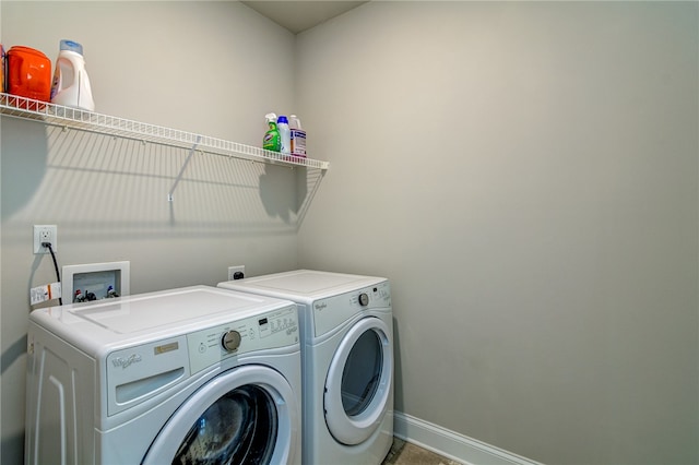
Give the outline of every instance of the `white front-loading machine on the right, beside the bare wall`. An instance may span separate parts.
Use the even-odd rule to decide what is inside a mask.
[[[218,286],[298,305],[304,464],[380,464],[393,441],[388,279],[299,270]]]

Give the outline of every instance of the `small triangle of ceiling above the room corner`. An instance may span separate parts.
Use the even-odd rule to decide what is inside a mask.
[[[366,1],[241,1],[263,16],[269,17],[294,34],[310,29],[331,17],[359,7]]]

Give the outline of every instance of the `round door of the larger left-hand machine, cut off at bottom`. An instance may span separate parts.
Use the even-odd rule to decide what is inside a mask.
[[[177,409],[143,464],[286,464],[299,452],[296,404],[288,382],[270,368],[226,371]]]

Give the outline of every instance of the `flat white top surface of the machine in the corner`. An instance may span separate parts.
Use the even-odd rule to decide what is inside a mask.
[[[297,270],[266,276],[229,281],[220,283],[218,287],[250,290],[293,299],[296,297],[327,297],[329,295],[336,295],[360,287],[371,286],[383,281],[386,281],[386,278],[382,277]]]

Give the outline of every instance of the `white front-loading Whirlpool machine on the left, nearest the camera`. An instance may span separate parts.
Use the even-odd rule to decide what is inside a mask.
[[[300,464],[296,305],[193,286],[29,315],[27,464]]]

